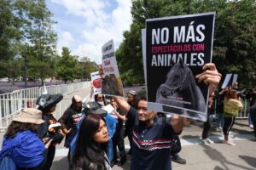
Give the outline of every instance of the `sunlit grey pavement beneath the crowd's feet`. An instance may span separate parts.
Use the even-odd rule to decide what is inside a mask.
[[[85,98],[90,92],[90,88],[78,90],[65,97],[72,99],[74,94],[79,94]],[[232,128],[231,138],[234,139],[236,146],[223,144],[221,132],[211,129],[209,138],[215,144],[201,144],[202,126],[191,123],[184,127],[181,134],[183,149],[180,156],[186,159],[186,165],[172,163],[174,170],[253,170],[256,169],[256,140],[253,137],[253,129],[247,126],[247,120],[236,120]],[[3,134],[0,133],[1,142]],[[125,150],[129,150],[128,140],[125,139]],[[113,170],[130,169],[131,156],[123,167],[114,166]],[[63,147],[63,142],[57,145],[55,160],[52,170],[66,170],[67,149]]]

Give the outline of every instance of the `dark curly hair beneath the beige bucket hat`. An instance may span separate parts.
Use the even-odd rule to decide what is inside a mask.
[[[33,132],[37,132],[37,125],[35,123],[30,122],[16,122],[13,121],[9,124],[7,128],[7,132],[4,134],[6,139],[15,138],[16,134],[19,132],[23,132],[26,130],[31,130]]]

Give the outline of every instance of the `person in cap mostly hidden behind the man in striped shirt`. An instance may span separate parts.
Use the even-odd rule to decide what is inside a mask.
[[[135,90],[130,90],[127,93],[127,103],[131,105],[131,107],[137,109],[137,92]],[[132,148],[132,121],[131,117],[127,115],[125,121],[125,136],[128,137],[130,143],[130,150],[128,154],[131,155],[131,148]]]

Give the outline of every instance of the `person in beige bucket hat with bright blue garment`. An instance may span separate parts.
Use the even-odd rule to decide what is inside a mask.
[[[38,138],[37,127],[43,123],[42,111],[26,108],[9,124],[3,136],[0,159],[9,154],[18,169],[44,169],[51,140],[44,144]]]

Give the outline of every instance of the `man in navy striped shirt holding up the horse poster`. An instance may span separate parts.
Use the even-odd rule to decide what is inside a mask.
[[[198,82],[209,86],[211,95],[218,87],[221,74],[216,66],[208,63],[203,66],[201,74],[196,75]],[[137,110],[131,107],[124,98],[115,97],[119,108],[131,116],[133,123],[133,146],[131,170],[165,169],[171,170],[172,140],[175,135],[182,132],[183,127],[190,120],[183,116],[173,115],[172,118],[160,118],[156,112],[148,110],[146,98],[138,100]]]

